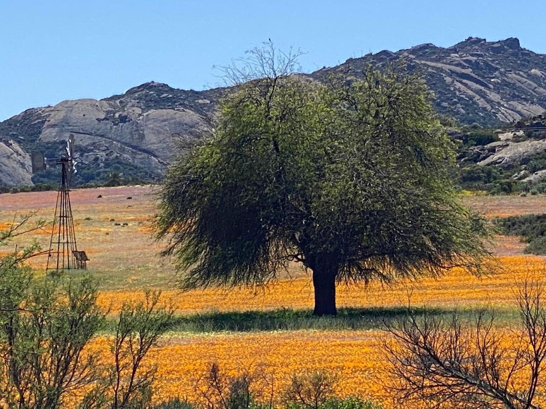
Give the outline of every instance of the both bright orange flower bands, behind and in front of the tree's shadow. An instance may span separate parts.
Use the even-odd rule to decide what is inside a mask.
[[[490,277],[474,277],[454,271],[439,279],[424,278],[394,287],[372,284],[367,288],[338,291],[340,307],[413,306],[472,308],[494,306],[513,310],[514,291],[526,278],[544,272],[544,260],[534,256],[501,258],[503,268]],[[106,291],[99,303],[115,311],[123,302],[135,302],[143,295],[134,291]],[[163,301],[177,313],[268,310],[282,307],[311,308],[312,287],[309,279],[280,281],[260,293],[252,290],[195,290],[188,293],[165,291]],[[217,362],[225,371],[235,374],[264,365],[276,379],[274,389],[280,393],[290,377],[302,370],[328,369],[339,375],[340,395],[359,395],[391,407],[384,381],[388,376],[378,330],[357,331],[277,331],[224,332],[211,334],[170,334],[153,351],[149,363],[158,366],[156,399],[179,396],[198,399],[196,379],[207,367]],[[108,341],[99,338],[94,347]]]

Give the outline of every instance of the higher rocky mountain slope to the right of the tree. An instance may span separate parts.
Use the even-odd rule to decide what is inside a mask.
[[[438,112],[462,124],[498,126],[546,110],[546,55],[521,48],[517,38],[488,42],[467,38],[449,48],[422,44],[397,52],[381,51],[312,73],[360,77],[368,65],[403,59],[418,69],[435,94]]]

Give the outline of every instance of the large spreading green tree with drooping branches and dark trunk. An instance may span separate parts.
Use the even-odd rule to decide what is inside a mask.
[[[298,261],[323,315],[339,282],[480,267],[487,231],[458,203],[423,81],[370,68],[323,84],[272,48],[251,57],[228,70],[250,81],[222,102],[215,135],[164,181],[159,237],[183,287],[264,283]]]

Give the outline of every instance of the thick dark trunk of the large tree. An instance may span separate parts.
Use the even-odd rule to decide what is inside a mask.
[[[337,265],[318,262],[313,268],[313,315],[337,315],[336,309]]]

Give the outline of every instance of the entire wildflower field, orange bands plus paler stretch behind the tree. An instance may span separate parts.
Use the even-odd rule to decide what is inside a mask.
[[[0,227],[9,227],[14,213],[36,212],[36,217],[52,219],[55,192],[0,195]],[[98,197],[98,196],[102,197]],[[130,198],[129,198],[130,197]],[[101,283],[99,305],[116,312],[123,302],[144,299],[143,289],[161,289],[162,302],[176,314],[212,312],[270,311],[283,308],[310,309],[313,289],[310,277],[298,265],[283,273],[265,289],[176,290],[176,276],[169,260],[158,253],[162,243],[151,236],[157,212],[153,188],[81,189],[71,192],[76,221],[78,248],[90,256],[88,272]],[[465,197],[467,205],[488,217],[545,213],[546,197]],[[49,227],[50,229],[50,227]],[[37,240],[49,245],[46,226],[22,244]],[[19,243],[21,245],[21,242]],[[474,277],[452,271],[441,278],[422,278],[388,286],[372,283],[367,287],[341,285],[337,303],[341,308],[390,311],[411,303],[431,308],[473,309],[494,307],[515,316],[514,291],[527,277],[541,277],[546,265],[538,256],[523,255],[524,244],[517,238],[498,237],[493,248],[499,268],[487,277]],[[3,252],[9,248],[3,248]],[[44,258],[32,261],[45,266]],[[507,326],[514,320],[507,319]],[[157,400],[180,396],[195,398],[196,379],[206,367],[217,362],[222,369],[236,373],[241,369],[265,366],[273,376],[274,389],[282,390],[290,375],[302,370],[328,369],[339,376],[341,395],[360,395],[388,406],[383,386],[387,376],[381,349],[383,334],[369,330],[282,330],[282,331],[173,331],[161,339],[148,365],[157,365]],[[94,340],[92,349],[107,349],[108,335]]]

